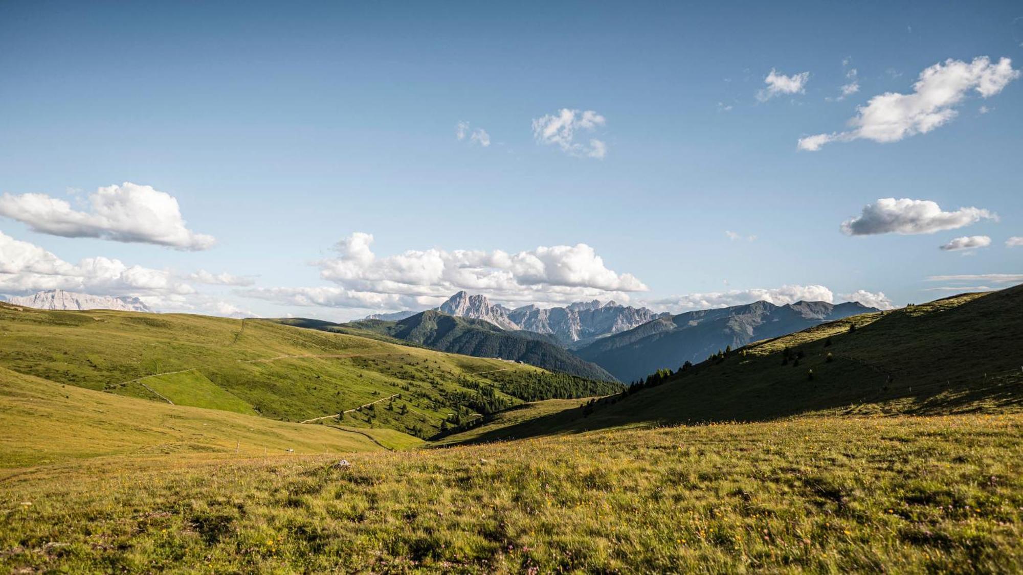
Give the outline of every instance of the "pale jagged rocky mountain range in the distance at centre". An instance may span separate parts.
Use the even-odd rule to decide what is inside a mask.
[[[504,329],[524,329],[553,336],[566,346],[577,346],[604,336],[631,329],[668,314],[655,313],[647,308],[622,306],[614,301],[602,303],[576,302],[567,307],[539,308],[523,306],[508,309],[491,304],[486,296],[470,296],[458,292],[441,304],[439,311],[489,321]]]

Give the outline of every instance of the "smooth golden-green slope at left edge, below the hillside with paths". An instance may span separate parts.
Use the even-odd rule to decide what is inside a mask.
[[[383,433],[388,430],[346,431],[169,405],[54,384],[4,368],[0,368],[0,468],[103,455],[251,457],[376,451],[415,444],[408,436]],[[4,475],[0,471],[0,478]]]

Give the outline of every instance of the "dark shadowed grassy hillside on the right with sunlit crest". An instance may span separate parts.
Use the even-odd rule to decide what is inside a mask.
[[[1023,286],[967,294],[752,344],[656,387],[490,429],[486,439],[804,413],[1019,411],[1021,341]]]

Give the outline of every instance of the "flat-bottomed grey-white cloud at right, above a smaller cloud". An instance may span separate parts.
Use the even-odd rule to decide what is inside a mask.
[[[934,233],[970,225],[982,218],[997,220],[998,216],[979,208],[942,212],[929,200],[883,197],[864,206],[859,216],[842,222],[841,227],[847,235]]]

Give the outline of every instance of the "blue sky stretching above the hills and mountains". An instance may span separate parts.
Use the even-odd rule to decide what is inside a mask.
[[[1023,247],[1006,245],[1023,236],[1019,3],[551,4],[0,5],[0,292],[345,319],[461,288],[681,311],[817,286],[902,305],[1023,280]],[[996,86],[964,80],[923,133],[798,147],[851,131],[875,96],[913,94],[929,67],[957,73],[948,59]],[[767,98],[772,71],[785,83]],[[601,120],[566,149],[534,129],[563,108]],[[124,182],[170,194],[216,244],[94,218],[90,195],[118,185],[130,202]],[[54,216],[27,193],[66,201],[78,227],[46,232]],[[914,230],[941,229],[840,230],[887,197],[952,216],[914,205]],[[356,232],[373,260],[361,235],[335,249]],[[939,249],[963,236],[990,245]],[[62,264],[33,252],[50,263],[32,267],[27,246]],[[122,265],[97,279],[98,257]],[[955,275],[980,277],[928,280]]]

